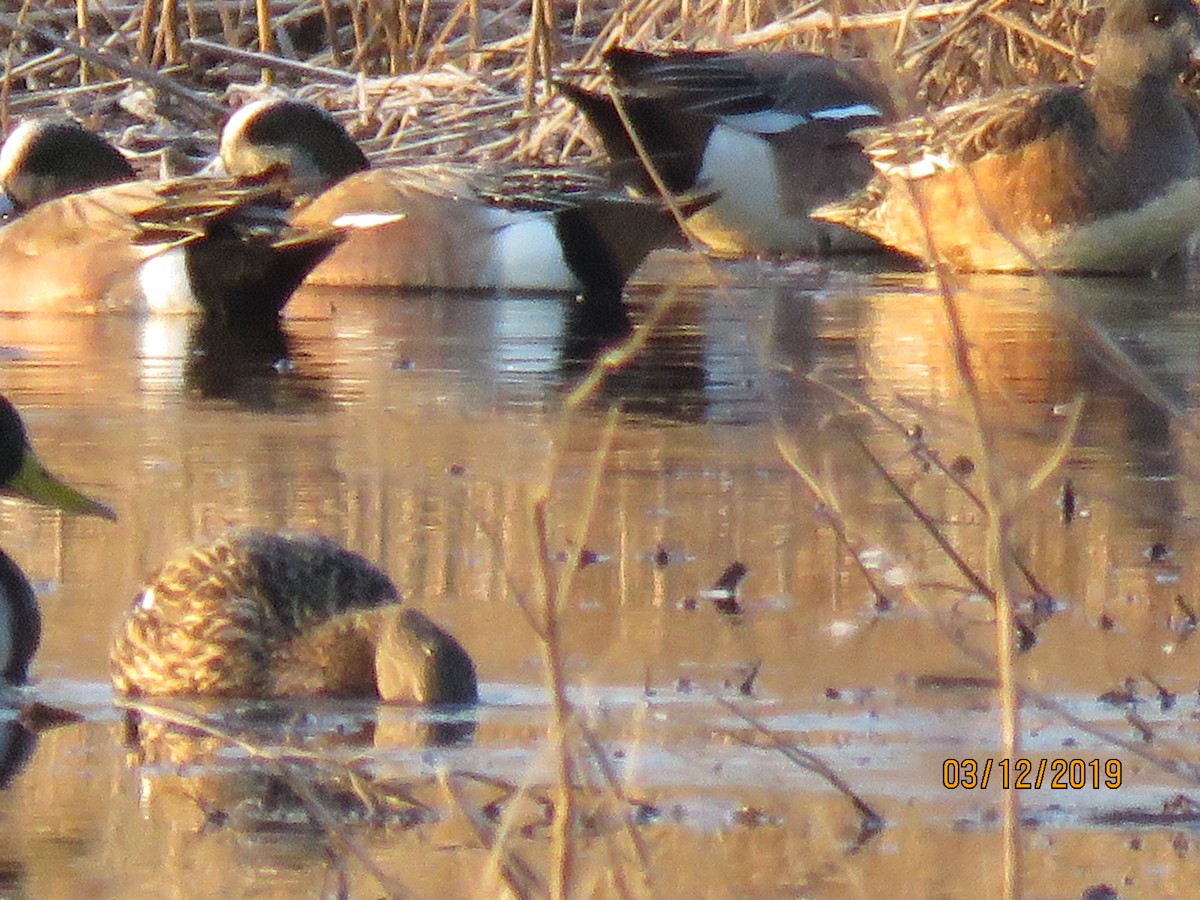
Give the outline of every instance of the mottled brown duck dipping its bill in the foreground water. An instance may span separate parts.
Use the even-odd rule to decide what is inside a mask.
[[[168,559],[126,610],[109,659],[130,697],[479,697],[462,644],[319,534],[235,529]]]

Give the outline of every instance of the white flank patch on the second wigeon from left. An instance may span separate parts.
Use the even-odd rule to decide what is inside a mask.
[[[575,293],[583,286],[563,256],[553,218],[545,212],[488,209],[492,248],[478,287]]]

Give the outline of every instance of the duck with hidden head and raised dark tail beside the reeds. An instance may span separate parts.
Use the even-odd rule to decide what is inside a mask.
[[[890,115],[886,91],[827,56],[672,50],[605,53],[611,85],[672,192],[710,186],[716,199],[689,218],[714,252],[812,254],[877,248],[809,211],[863,187],[871,164],[846,137]],[[559,83],[599,132],[613,175],[653,191],[610,95]]]

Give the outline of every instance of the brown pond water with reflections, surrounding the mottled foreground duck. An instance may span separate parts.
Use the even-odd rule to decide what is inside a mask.
[[[587,565],[562,598],[569,697],[595,738],[572,736],[574,895],[1000,894],[1000,769],[986,790],[943,784],[965,772],[947,760],[1000,756],[997,694],[964,649],[994,653],[991,606],[901,494],[966,566],[1007,578],[1036,638],[1016,658],[1021,754],[1049,764],[1019,793],[1026,893],[1193,895],[1200,298],[961,286],[983,456],[928,276],[664,254],[635,319],[662,282],[674,302],[647,346],[575,412],[596,348],[562,299],[306,290],[254,347],[187,319],[0,318],[0,390],[43,461],[120,514],[0,508],[44,611],[29,694],[83,716],[32,744],[10,721],[0,895],[494,896],[493,839],[544,884],[557,755],[517,602],[539,598],[530,498],[548,486],[558,575],[598,466]],[[988,574],[970,492],[989,468],[1032,578]],[[193,710],[248,743],[160,724],[130,745],[107,680],[125,605],[166,556],[241,524],[320,530],[379,562],[474,654],[482,704]],[[704,592],[734,562],[748,574],[726,614]],[[1102,700],[1127,679],[1127,702]],[[882,830],[860,835],[788,746]],[[280,748],[312,757],[264,760]],[[335,780],[353,761],[361,796]],[[1080,761],[1086,786],[1051,790],[1056,761]]]

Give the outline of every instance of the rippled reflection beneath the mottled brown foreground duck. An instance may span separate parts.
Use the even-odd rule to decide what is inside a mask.
[[[202,834],[233,829],[281,848],[319,846],[334,823],[432,821],[438,799],[430,779],[384,778],[380,764],[394,768],[395,754],[469,743],[475,727],[467,713],[436,710],[395,710],[410,713],[404,727],[383,726],[379,710],[344,701],[152,706],[158,715],[143,714],[137,731],[127,733],[146,812],[194,823]],[[181,724],[188,720],[192,726]],[[236,754],[229,752],[233,745]]]

